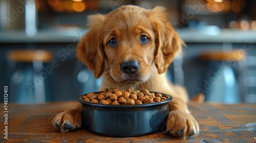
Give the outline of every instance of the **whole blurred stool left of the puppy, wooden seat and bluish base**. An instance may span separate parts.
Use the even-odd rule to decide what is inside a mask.
[[[44,64],[53,59],[53,54],[46,50],[10,50],[6,57],[12,71],[9,86],[13,89],[14,102],[45,103],[48,90],[45,81],[52,69],[46,71],[49,69]]]

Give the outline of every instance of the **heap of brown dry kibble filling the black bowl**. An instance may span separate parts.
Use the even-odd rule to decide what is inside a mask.
[[[147,89],[139,91],[127,88],[124,91],[117,88],[105,88],[100,93],[88,93],[82,97],[82,100],[105,105],[140,105],[161,102],[166,100],[166,98],[161,93],[155,94]]]

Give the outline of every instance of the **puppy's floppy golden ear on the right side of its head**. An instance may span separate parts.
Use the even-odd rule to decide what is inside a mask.
[[[163,7],[149,11],[153,29],[156,34],[155,65],[158,73],[164,73],[173,61],[175,54],[181,50],[183,40],[167,20],[168,13]]]

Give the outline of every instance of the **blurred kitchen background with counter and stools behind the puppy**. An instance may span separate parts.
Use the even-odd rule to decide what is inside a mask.
[[[127,4],[167,9],[187,45],[168,78],[190,97],[256,103],[256,1],[0,0],[0,87],[8,86],[9,103],[74,101],[97,90],[100,79],[76,59],[75,47],[88,15]]]

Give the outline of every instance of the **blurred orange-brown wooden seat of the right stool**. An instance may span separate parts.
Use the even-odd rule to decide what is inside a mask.
[[[200,58],[203,60],[213,60],[213,61],[240,61],[244,60],[246,53],[244,50],[232,50],[227,52],[214,51],[205,52],[200,54]]]

